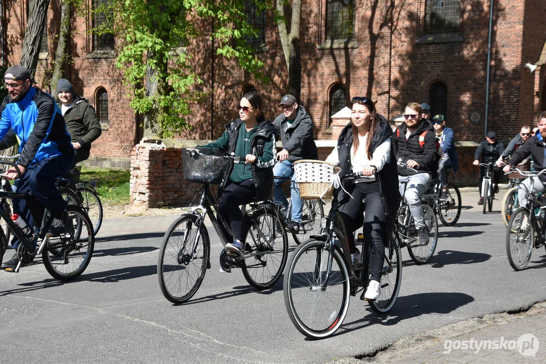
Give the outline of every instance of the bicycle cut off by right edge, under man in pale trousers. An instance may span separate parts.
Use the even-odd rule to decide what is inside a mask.
[[[531,178],[546,173],[546,169],[540,172],[520,171],[518,168],[512,170]],[[506,230],[506,255],[515,271],[523,270],[529,264],[533,247],[535,249],[541,246],[546,247],[544,241],[545,209],[546,205],[543,204],[541,196],[531,190],[527,206],[519,207],[512,214]]]

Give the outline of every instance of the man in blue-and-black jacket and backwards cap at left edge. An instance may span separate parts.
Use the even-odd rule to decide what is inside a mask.
[[[55,180],[72,166],[74,148],[70,143],[61,110],[47,93],[32,87],[32,77],[27,69],[14,65],[5,70],[4,87],[8,97],[0,105],[0,139],[2,147],[20,141],[20,157],[15,166],[5,171],[8,180],[15,180],[17,192],[32,193],[35,200],[14,199],[13,210],[29,226],[40,224],[44,206],[55,216],[54,225],[48,236],[59,236],[70,226],[66,212],[66,201],[55,187]],[[5,137],[5,138],[4,138]],[[13,248],[19,246],[14,240]],[[26,266],[32,256],[21,262]],[[19,263],[17,254],[4,262],[3,268],[15,268]]]

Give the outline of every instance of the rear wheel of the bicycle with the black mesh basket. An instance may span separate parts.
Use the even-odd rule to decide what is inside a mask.
[[[248,258],[241,265],[242,274],[252,287],[270,288],[281,278],[288,259],[288,235],[281,217],[272,207],[259,208],[250,216],[244,236]]]

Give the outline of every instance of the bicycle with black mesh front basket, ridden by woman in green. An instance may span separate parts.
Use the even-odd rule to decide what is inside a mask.
[[[210,186],[222,181],[229,163],[244,163],[239,157],[209,148],[185,148],[182,153],[184,178],[200,184],[199,200],[169,226],[157,262],[159,287],[165,298],[175,304],[186,302],[197,293],[211,267],[205,216],[224,247],[233,241],[229,223],[218,213]],[[250,210],[242,207],[244,256],[223,249],[219,258],[222,271],[241,268],[246,281],[256,289],[270,288],[281,278],[288,255],[288,236],[278,214],[279,205],[263,201],[250,205]]]

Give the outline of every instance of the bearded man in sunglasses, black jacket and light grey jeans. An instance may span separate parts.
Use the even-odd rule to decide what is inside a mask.
[[[398,166],[400,193],[410,207],[419,244],[425,246],[429,243],[429,234],[420,195],[428,188],[432,174],[438,170],[438,142],[434,129],[421,115],[421,105],[409,103],[404,111],[406,122],[396,128],[391,139],[396,160],[408,167]]]

